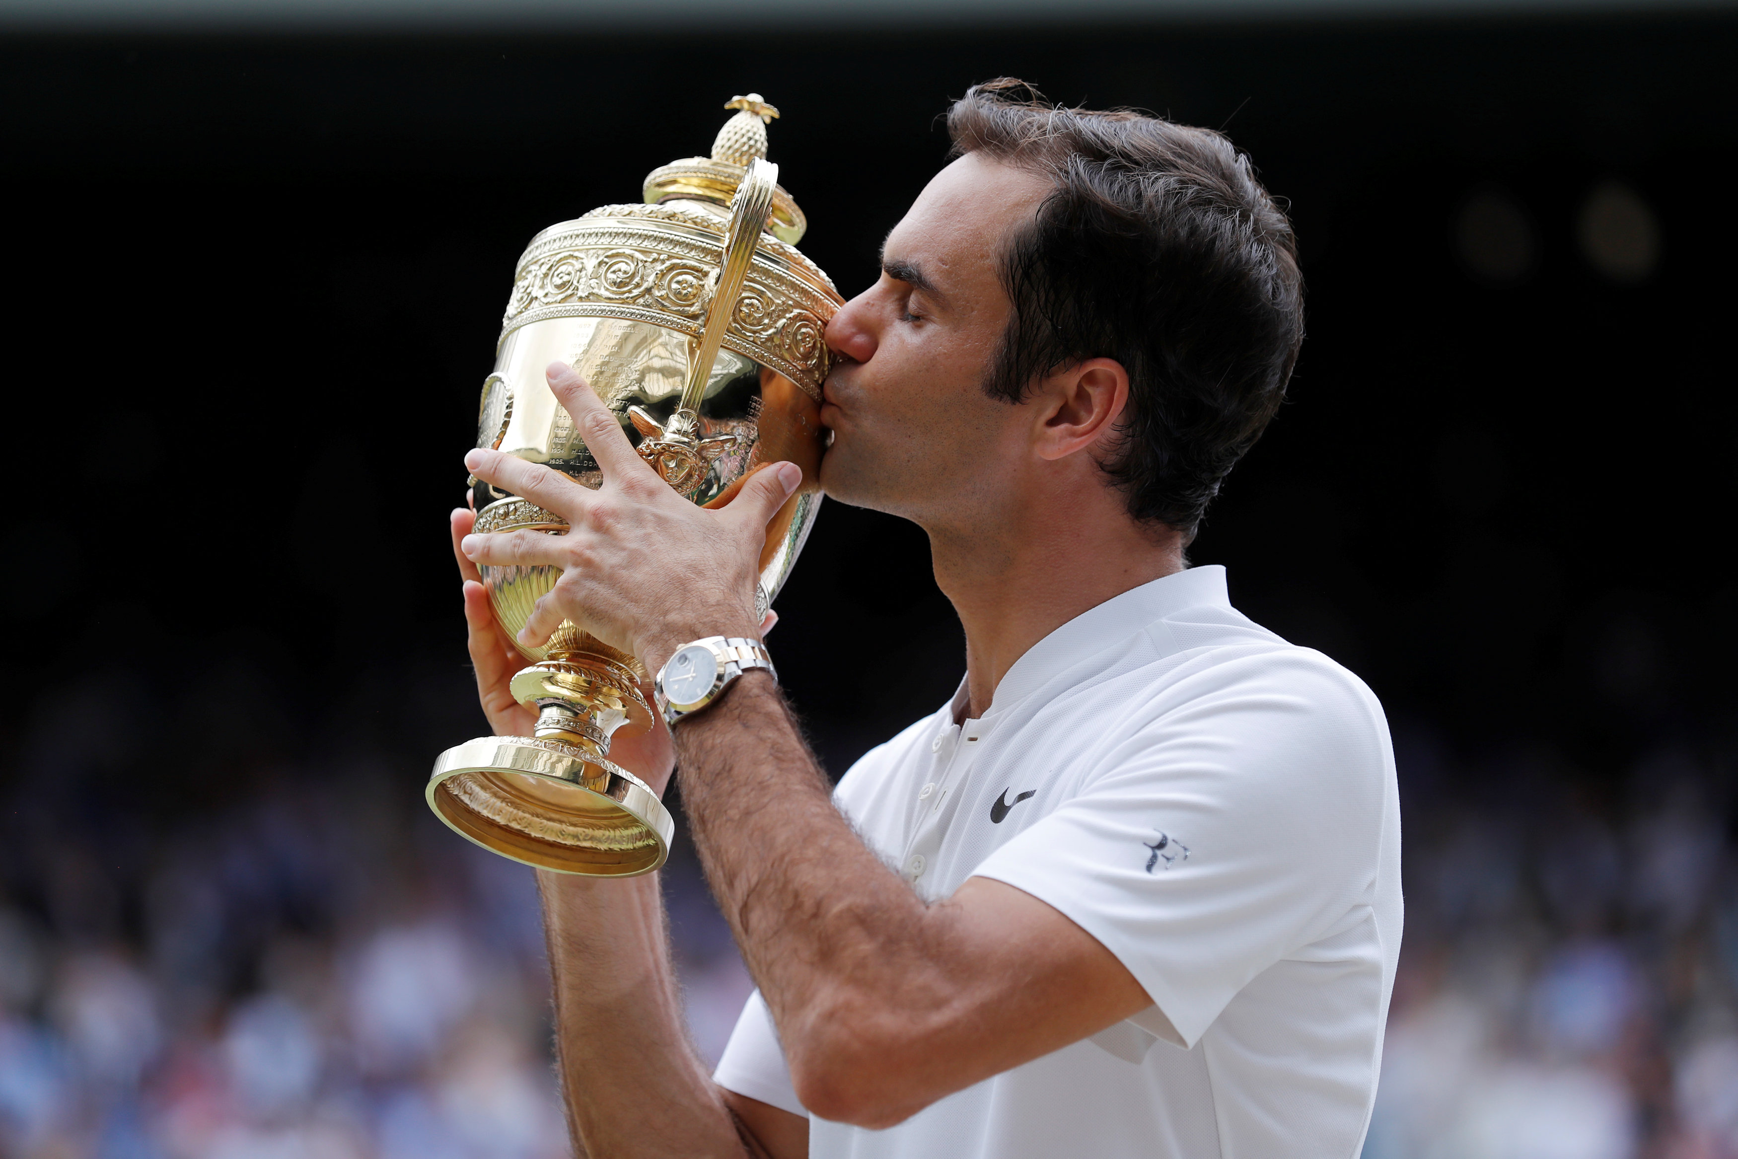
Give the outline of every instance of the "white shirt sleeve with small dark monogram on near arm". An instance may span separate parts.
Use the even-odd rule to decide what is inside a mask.
[[[975,876],[1093,935],[1164,1013],[1131,1022],[1192,1048],[1250,980],[1368,902],[1394,758],[1370,690],[1309,650],[1161,697]]]

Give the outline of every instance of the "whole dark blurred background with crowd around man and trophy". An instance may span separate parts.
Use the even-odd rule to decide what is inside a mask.
[[[0,1156],[567,1154],[530,871],[422,805],[483,730],[445,511],[513,262],[753,89],[857,292],[947,99],[1013,73],[1225,127],[1293,207],[1293,401],[1192,558],[1394,723],[1366,1156],[1733,1159],[1733,59],[1717,5],[0,19]],[[834,777],[963,669],[893,520],[826,507],[780,613]],[[751,982],[685,838],[664,888],[716,1056]]]

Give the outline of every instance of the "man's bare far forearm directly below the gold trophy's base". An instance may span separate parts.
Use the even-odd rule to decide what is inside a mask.
[[[753,1154],[688,1044],[659,876],[537,878],[575,1152],[594,1159]]]

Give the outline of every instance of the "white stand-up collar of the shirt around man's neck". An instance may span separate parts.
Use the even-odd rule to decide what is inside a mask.
[[[1231,596],[1225,591],[1225,568],[1218,563],[1185,568],[1140,587],[1130,587],[1121,596],[1112,596],[1097,608],[1081,612],[1027,648],[1025,655],[1015,660],[1008,674],[996,685],[989,711],[996,712],[1024,700],[1051,676],[1114,648],[1154,620],[1199,606],[1231,606]]]

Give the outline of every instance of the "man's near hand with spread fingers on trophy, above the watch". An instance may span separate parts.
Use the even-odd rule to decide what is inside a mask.
[[[591,490],[551,467],[495,450],[464,464],[480,478],[568,521],[563,535],[466,535],[466,558],[488,566],[561,568],[561,579],[520,632],[542,646],[572,620],[640,659],[648,672],[700,636],[760,636],[754,615],[766,523],[803,480],[793,462],[756,471],[728,506],[697,507],[678,495],[627,441],[612,414],[572,367],[551,363],[549,387],[598,460]]]

